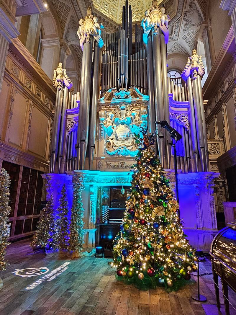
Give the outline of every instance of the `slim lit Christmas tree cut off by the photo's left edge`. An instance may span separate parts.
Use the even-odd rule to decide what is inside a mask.
[[[8,215],[11,207],[9,206],[9,186],[10,177],[5,169],[0,172],[0,270],[5,270],[7,262],[5,261],[6,248],[9,244],[10,224]],[[1,280],[1,279],[0,279]],[[1,281],[0,281],[1,282]],[[0,289],[2,287],[0,283]]]

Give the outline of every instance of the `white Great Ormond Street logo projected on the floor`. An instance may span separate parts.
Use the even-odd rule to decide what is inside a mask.
[[[42,268],[16,269],[13,273],[16,276],[27,278],[27,277],[39,276],[48,272],[45,276],[43,276],[42,278],[38,279],[37,281],[35,281],[34,283],[30,284],[28,287],[25,288],[26,290],[32,290],[44,281],[52,281],[53,279],[57,278],[62,272],[64,272],[66,269],[69,268],[67,266],[69,264],[70,262],[66,261],[63,265],[57,267],[56,269],[53,269],[50,272],[48,272],[49,271],[48,268],[42,267]]]

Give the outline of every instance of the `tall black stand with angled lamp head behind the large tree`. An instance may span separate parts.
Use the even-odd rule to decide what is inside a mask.
[[[166,130],[169,132],[171,138],[173,138],[173,139],[175,140],[175,143],[172,142],[172,147],[173,147],[173,149],[174,149],[174,169],[175,169],[176,200],[177,200],[177,202],[178,202],[178,204],[179,204],[179,187],[178,187],[178,172],[177,172],[178,166],[177,166],[176,142],[177,142],[178,140],[182,139],[183,137],[182,137],[182,135],[180,135],[180,134],[178,133],[178,131],[177,131],[176,129],[172,128],[172,127],[168,124],[168,122],[167,122],[166,120],[156,120],[154,123],[155,123],[155,124],[160,124],[160,126],[161,126],[162,128],[166,129]],[[177,212],[177,213],[178,213],[178,216],[180,217],[179,209],[178,209],[178,212]]]

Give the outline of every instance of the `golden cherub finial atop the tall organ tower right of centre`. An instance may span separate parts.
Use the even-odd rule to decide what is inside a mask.
[[[154,35],[157,34],[158,27],[161,29],[165,35],[165,42],[168,43],[169,31],[168,24],[170,22],[170,17],[166,14],[166,9],[164,7],[159,7],[156,0],[152,1],[152,6],[150,10],[145,11],[145,18],[141,22],[143,27],[143,41],[147,44],[148,35],[152,28],[154,28]]]

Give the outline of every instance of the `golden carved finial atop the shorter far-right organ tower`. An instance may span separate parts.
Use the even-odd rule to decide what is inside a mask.
[[[181,77],[184,81],[191,77],[193,80],[197,79],[198,75],[203,77],[205,69],[202,62],[202,56],[197,54],[196,49],[193,49],[192,56],[188,57],[186,66],[184,67]]]

